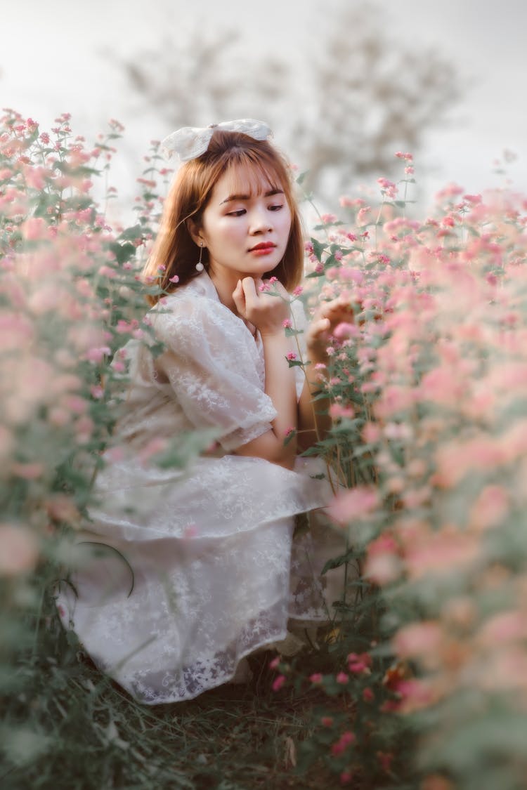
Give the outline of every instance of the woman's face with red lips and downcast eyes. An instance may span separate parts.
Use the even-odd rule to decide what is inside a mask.
[[[258,171],[228,171],[216,182],[200,239],[209,250],[209,273],[235,288],[243,277],[262,277],[284,257],[291,211],[284,192]]]

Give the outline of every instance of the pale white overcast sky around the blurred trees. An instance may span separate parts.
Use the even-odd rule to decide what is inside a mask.
[[[107,119],[119,119],[126,156],[113,181],[126,196],[149,140],[171,130],[153,114],[137,116],[137,99],[105,52],[130,58],[162,40],[178,43],[199,25],[210,31],[217,24],[239,31],[247,47],[294,58],[316,52],[317,31],[338,2],[0,0],[0,106],[32,116],[42,130],[70,111],[73,131],[88,140]],[[421,153],[427,175],[419,175],[419,163],[416,171],[425,200],[450,180],[469,192],[501,183],[491,171],[504,149],[518,154],[508,173],[527,192],[526,0],[379,0],[377,6],[395,40],[416,51],[435,46],[471,83],[450,126],[427,135]],[[295,152],[288,153],[295,160]]]

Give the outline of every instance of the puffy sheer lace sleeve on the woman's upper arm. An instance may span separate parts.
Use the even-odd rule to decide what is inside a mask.
[[[197,428],[217,427],[230,452],[269,431],[263,360],[243,322],[210,299],[179,299],[152,321],[166,352],[156,363]]]

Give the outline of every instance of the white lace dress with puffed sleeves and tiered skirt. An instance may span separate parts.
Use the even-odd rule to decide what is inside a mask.
[[[119,450],[106,453],[85,559],[61,585],[58,611],[101,669],[156,704],[226,683],[243,656],[286,637],[289,618],[326,619],[322,559],[313,535],[293,538],[293,527],[295,514],[326,503],[327,483],[311,476],[314,461],[289,471],[230,454],[276,412],[260,338],[205,272],[149,315],[167,351],[154,360],[145,342],[126,346]],[[204,427],[220,429],[222,457],[184,472],[145,461],[152,440]]]

